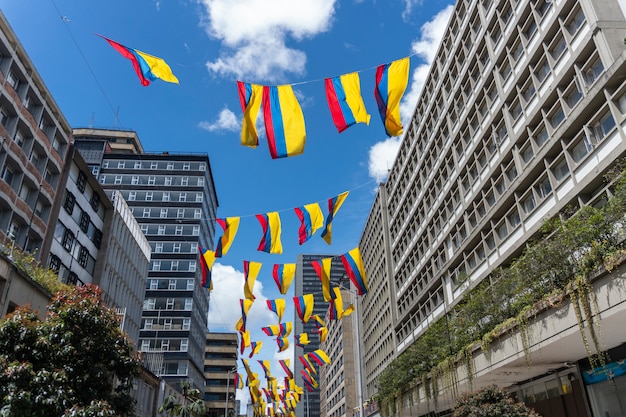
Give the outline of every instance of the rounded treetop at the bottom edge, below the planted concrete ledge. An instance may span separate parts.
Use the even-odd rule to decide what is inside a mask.
[[[454,407],[452,417],[538,417],[524,403],[516,403],[495,385],[464,394]]]

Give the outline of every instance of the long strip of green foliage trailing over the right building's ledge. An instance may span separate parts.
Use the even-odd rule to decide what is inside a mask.
[[[572,285],[581,287],[581,277],[586,281],[590,272],[603,265],[610,269],[611,259],[624,252],[625,167],[621,164],[607,176],[610,198],[604,205],[568,207],[547,219],[541,239],[528,243],[506,268],[495,270],[466,292],[454,308],[392,361],[379,376],[381,401],[391,400],[412,383],[428,380],[439,364],[450,357],[463,357],[469,345],[482,341],[487,347],[496,332],[503,331],[504,323],[522,325],[535,303],[571,290]],[[469,282],[466,279],[460,285]],[[586,310],[587,316],[591,309]],[[425,388],[429,398],[436,398],[436,387]]]

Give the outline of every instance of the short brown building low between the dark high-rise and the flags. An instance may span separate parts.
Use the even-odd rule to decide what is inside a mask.
[[[235,401],[238,348],[237,333],[208,332],[206,334],[204,400],[209,408],[208,417],[239,415],[239,408]]]

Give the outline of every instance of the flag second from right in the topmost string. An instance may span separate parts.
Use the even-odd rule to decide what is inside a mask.
[[[370,115],[361,97],[359,73],[326,78],[326,101],[339,133],[356,123],[370,123]]]

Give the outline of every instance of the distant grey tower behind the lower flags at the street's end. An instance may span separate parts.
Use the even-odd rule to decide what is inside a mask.
[[[295,296],[302,296],[304,294],[313,294],[315,304],[313,305],[312,315],[318,314],[321,318],[326,316],[328,310],[328,302],[324,301],[322,295],[322,285],[315,269],[313,269],[312,261],[317,261],[323,258],[332,257],[332,263],[330,268],[330,282],[332,285],[337,285],[346,273],[346,270],[341,262],[339,256],[332,255],[298,255],[296,259],[296,276],[295,276]],[[295,315],[293,319],[293,331],[294,334],[307,333],[310,343],[305,345],[304,348],[296,346],[294,349],[295,365],[294,365],[294,377],[298,385],[303,385],[302,371],[304,366],[298,359],[300,356],[313,352],[320,348],[320,336],[317,333],[317,327],[314,320],[309,320],[307,323],[302,323],[300,318]],[[304,388],[305,395],[301,399],[298,407],[296,408],[297,417],[311,417],[318,416],[320,414],[320,392],[319,390],[308,391]]]

